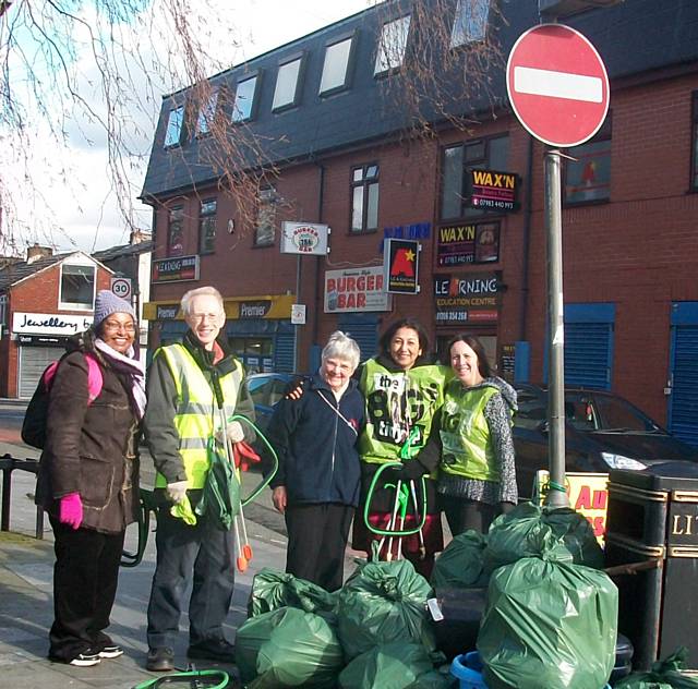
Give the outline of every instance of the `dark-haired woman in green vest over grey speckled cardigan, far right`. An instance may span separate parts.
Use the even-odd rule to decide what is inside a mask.
[[[419,460],[438,466],[437,491],[452,533],[484,533],[518,499],[512,440],[516,390],[492,374],[474,335],[454,337],[448,353],[455,378]]]

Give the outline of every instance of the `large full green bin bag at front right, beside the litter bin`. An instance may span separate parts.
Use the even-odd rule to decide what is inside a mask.
[[[498,568],[478,633],[489,689],[601,689],[615,663],[618,591],[550,534],[542,557]]]

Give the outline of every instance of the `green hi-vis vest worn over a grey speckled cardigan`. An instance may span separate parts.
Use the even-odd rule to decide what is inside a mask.
[[[441,411],[441,470],[466,479],[500,481],[484,408],[495,387],[464,389],[454,380]]]

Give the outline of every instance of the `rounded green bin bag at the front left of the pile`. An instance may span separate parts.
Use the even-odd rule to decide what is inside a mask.
[[[281,607],[252,617],[238,629],[236,664],[250,689],[330,688],[345,658],[337,632],[326,619]]]

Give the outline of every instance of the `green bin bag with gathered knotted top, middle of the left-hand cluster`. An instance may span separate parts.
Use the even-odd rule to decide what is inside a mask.
[[[361,563],[337,594],[339,640],[347,658],[399,641],[436,649],[426,613],[432,589],[409,560]]]

